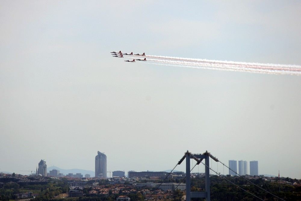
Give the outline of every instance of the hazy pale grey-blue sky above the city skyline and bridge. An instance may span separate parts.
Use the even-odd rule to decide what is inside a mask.
[[[300,19],[300,1],[0,1],[0,171],[94,170],[98,150],[161,171],[208,150],[300,179],[300,76],[109,53],[301,65]]]

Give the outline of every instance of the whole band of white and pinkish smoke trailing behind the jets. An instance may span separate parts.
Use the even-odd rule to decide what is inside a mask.
[[[152,63],[164,63],[170,66],[180,67],[194,67],[201,69],[214,69],[214,70],[231,70],[231,71],[244,71],[268,74],[291,74],[301,75],[301,66],[298,65],[282,65],[270,63],[247,63],[247,62],[234,62],[234,61],[218,61],[207,59],[191,59],[181,57],[166,57],[147,55],[148,61]],[[134,56],[127,56],[127,58],[137,58]]]

